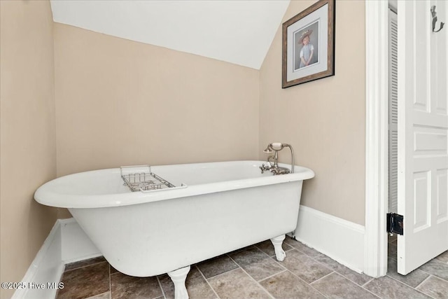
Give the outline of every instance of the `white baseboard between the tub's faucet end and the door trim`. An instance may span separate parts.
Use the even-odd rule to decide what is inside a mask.
[[[364,270],[364,226],[300,206],[295,239],[356,272]]]

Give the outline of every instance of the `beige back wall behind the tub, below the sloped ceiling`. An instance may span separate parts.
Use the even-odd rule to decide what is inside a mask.
[[[55,24],[58,176],[258,157],[259,72]]]

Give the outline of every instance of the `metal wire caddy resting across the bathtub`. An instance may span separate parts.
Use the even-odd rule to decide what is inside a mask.
[[[178,188],[187,188],[187,185],[181,183],[181,186],[174,186],[172,183],[151,172],[150,165],[134,165],[120,167],[121,178],[124,185],[129,187],[132,192],[151,192],[158,190],[172,190]]]

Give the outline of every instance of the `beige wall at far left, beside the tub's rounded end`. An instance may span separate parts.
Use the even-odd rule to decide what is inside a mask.
[[[56,221],[36,188],[56,176],[53,23],[48,1],[0,1],[3,281],[20,281]],[[13,290],[1,289],[1,298]]]

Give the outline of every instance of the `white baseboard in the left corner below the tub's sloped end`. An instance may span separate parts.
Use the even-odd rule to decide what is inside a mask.
[[[66,263],[100,255],[73,218],[58,219],[21,281],[26,287],[18,288],[12,299],[55,298]]]

